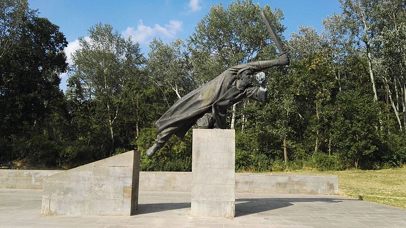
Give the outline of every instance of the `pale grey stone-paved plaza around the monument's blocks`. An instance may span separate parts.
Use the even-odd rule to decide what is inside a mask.
[[[235,218],[190,216],[190,192],[140,192],[133,216],[41,216],[42,190],[0,189],[0,227],[406,227],[406,210],[339,196],[236,194]]]

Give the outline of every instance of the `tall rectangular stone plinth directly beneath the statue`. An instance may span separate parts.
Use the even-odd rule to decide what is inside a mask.
[[[191,215],[234,217],[234,130],[193,129]]]

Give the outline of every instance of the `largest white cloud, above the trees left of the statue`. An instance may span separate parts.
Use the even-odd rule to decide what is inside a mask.
[[[127,29],[122,32],[122,35],[124,37],[131,36],[133,41],[140,44],[148,44],[153,37],[174,38],[176,33],[182,29],[182,25],[182,21],[171,20],[169,24],[165,24],[164,27],[159,24],[150,27],[144,25],[143,21],[140,20],[137,29],[127,27]]]

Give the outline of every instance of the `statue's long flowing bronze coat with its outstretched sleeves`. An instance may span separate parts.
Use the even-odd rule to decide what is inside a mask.
[[[266,95],[256,87],[239,90],[235,86],[239,70],[249,67],[258,72],[278,65],[278,60],[256,61],[241,64],[224,71],[212,81],[189,92],[179,99],[161,118],[155,126],[158,133],[168,127],[177,127],[175,135],[184,137],[188,129],[206,113],[213,113],[220,128],[225,128],[226,109],[245,97],[265,101]],[[252,85],[251,85],[252,86]]]

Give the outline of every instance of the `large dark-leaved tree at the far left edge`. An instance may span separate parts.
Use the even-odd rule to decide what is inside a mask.
[[[52,166],[67,128],[59,89],[67,42],[57,25],[38,17],[25,1],[2,1],[2,7],[1,45],[7,54],[0,58],[0,138],[10,150],[0,159],[28,157]]]

